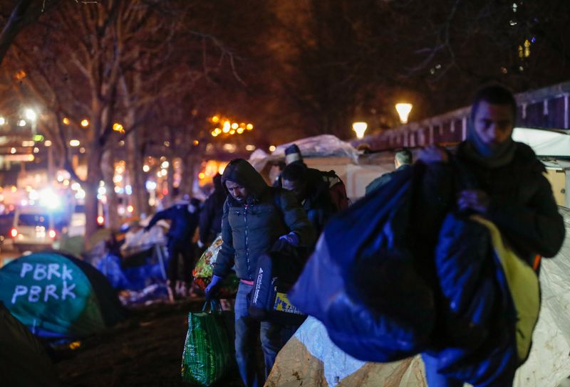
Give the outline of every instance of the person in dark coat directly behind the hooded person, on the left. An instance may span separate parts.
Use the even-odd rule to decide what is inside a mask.
[[[214,176],[214,192],[204,202],[200,211],[198,247],[204,248],[222,232],[222,216],[227,193],[222,186],[222,175]]]

